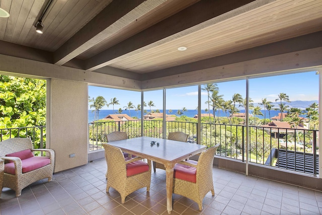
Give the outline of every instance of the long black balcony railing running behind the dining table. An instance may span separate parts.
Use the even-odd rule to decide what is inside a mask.
[[[167,121],[169,132],[189,134],[188,142],[197,143],[197,123]],[[140,120],[89,123],[89,150],[100,150],[105,134],[126,131],[129,138],[141,136]],[[307,174],[318,173],[318,130],[249,126],[249,162]],[[246,161],[246,125],[201,123],[201,144],[219,144],[216,156]],[[163,138],[163,121],[143,120],[143,136]]]

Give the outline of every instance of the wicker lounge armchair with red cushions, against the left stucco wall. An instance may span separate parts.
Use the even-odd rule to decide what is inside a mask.
[[[6,157],[12,153],[18,153],[25,150],[31,150],[31,152],[40,151],[47,152],[50,159],[50,163],[40,167],[38,169],[34,169],[29,172],[24,172],[24,165],[20,158],[18,157]],[[16,196],[21,195],[21,190],[31,183],[38,181],[43,178],[48,178],[48,182],[52,179],[52,174],[54,171],[54,161],[55,161],[55,153],[51,149],[33,149],[32,141],[30,138],[11,138],[0,142],[0,158],[5,160],[5,162],[13,162],[15,167],[15,174],[10,174],[6,172],[6,165],[11,165],[11,163],[5,164],[5,172],[3,176],[3,180],[0,178],[0,184],[3,187],[9,187],[16,191]],[[37,161],[45,159],[46,157],[35,157]]]

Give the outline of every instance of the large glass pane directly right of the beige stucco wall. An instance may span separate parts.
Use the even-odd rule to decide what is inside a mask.
[[[89,86],[89,149],[100,150],[106,134],[127,132],[141,136],[141,92]]]

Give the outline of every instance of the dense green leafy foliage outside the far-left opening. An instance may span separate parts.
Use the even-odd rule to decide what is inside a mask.
[[[45,125],[46,81],[0,76],[0,128]],[[35,130],[12,129],[10,134],[9,129],[4,129],[2,137],[3,139],[7,139],[17,136],[31,136],[36,144],[35,148],[39,148],[40,130],[39,128]],[[43,135],[45,135],[45,128]]]

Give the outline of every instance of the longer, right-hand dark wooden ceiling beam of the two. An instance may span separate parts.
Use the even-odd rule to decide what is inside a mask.
[[[130,57],[157,45],[167,43],[179,37],[198,31],[213,22],[206,22],[225,14],[223,19],[245,13],[268,4],[272,0],[202,0],[181,12],[165,19],[144,31],[102,51],[86,60],[86,70],[96,70],[118,60]],[[250,7],[243,7],[254,2]],[[226,13],[229,12],[228,15]],[[219,20],[217,21],[219,22]]]

